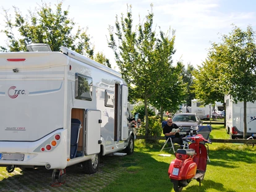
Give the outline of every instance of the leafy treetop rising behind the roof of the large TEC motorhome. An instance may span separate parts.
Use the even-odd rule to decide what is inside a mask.
[[[72,34],[75,22],[69,19],[69,10],[62,9],[62,1],[55,6],[56,10],[53,10],[51,4],[42,2],[41,6],[36,7],[35,12],[29,10],[27,17],[23,17],[19,8],[14,6],[14,21],[4,9],[6,26],[1,32],[7,36],[9,42],[7,46],[0,46],[0,51],[27,51],[28,44],[47,43],[52,51],[60,51],[61,46],[66,46],[94,59],[94,48],[90,43],[88,28],[79,26]],[[95,60],[110,67],[102,52],[96,54]]]

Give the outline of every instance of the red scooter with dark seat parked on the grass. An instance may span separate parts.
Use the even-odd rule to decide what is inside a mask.
[[[183,138],[190,141],[189,149],[177,149],[174,159],[169,165],[168,175],[173,183],[174,191],[182,191],[184,186],[189,185],[192,178],[196,179],[201,186],[207,167],[208,150],[205,143],[211,143],[198,134]]]

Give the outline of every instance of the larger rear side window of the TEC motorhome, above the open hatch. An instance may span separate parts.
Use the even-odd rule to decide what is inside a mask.
[[[75,73],[75,99],[92,101],[92,78]]]

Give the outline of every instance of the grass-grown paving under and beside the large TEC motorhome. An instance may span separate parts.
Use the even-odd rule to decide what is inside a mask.
[[[104,156],[101,158],[100,169],[93,175],[86,175],[78,165],[67,167],[65,185],[52,187],[51,174],[53,170],[38,168],[35,170],[20,170],[0,172],[0,191],[30,192],[30,191],[100,191],[108,183],[116,180],[121,173],[126,172],[122,166],[122,156]]]

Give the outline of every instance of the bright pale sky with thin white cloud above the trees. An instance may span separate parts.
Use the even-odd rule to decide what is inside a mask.
[[[57,0],[51,2],[51,7]],[[156,33],[159,27],[164,33],[169,28],[175,30],[176,40],[173,55],[174,64],[182,61],[184,65],[192,64],[195,68],[201,66],[207,59],[211,43],[221,41],[221,35],[228,35],[233,25],[246,30],[251,25],[256,30],[256,1],[252,0],[64,0],[62,10],[69,8],[69,18],[74,19],[76,26],[88,27],[88,35],[95,45],[95,51],[103,52],[110,59],[112,68],[118,70],[114,61],[113,51],[108,48],[109,25],[114,26],[116,15],[126,15],[127,4],[132,5],[134,25],[143,23],[143,19],[153,4],[153,26]],[[18,7],[22,15],[28,10],[35,10],[41,5],[41,0],[9,0],[1,1],[1,9],[8,10],[13,15]],[[139,20],[140,17],[140,20]],[[0,30],[4,29],[4,15],[0,12]],[[0,45],[6,45],[7,37],[0,35]]]

